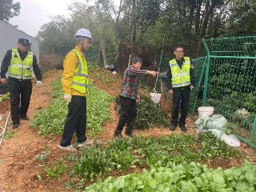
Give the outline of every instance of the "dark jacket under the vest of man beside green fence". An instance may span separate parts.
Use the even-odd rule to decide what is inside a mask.
[[[184,58],[182,58],[182,60],[176,59],[176,62],[178,63],[179,68],[182,69],[182,65],[183,65],[183,62],[185,62],[185,59]],[[190,63],[191,63],[190,82],[191,82],[192,86],[195,86],[196,78],[194,76],[194,68],[192,66],[191,60],[190,60]],[[171,84],[171,78],[172,78],[172,75],[171,75],[171,71],[170,71],[170,66],[168,65],[168,70],[166,72],[166,86],[167,86],[168,90],[172,90],[173,89],[173,86]]]

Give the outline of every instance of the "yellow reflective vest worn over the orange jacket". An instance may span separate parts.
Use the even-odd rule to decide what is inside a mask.
[[[84,56],[80,54],[78,50],[74,49],[71,51],[74,52],[78,58],[78,66],[74,70],[71,88],[85,94],[86,88],[89,84],[86,58],[84,58]]]

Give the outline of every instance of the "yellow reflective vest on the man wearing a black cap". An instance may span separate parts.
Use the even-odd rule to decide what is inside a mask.
[[[13,49],[9,66],[9,77],[18,79],[31,79],[33,74],[33,53],[28,52],[22,61],[18,49]]]

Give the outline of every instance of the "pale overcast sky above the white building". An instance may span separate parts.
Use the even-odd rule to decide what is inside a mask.
[[[26,34],[35,36],[40,26],[50,22],[51,16],[58,14],[68,16],[68,5],[74,0],[14,0],[14,2],[20,2],[21,13],[18,17],[11,18],[10,23],[18,26],[18,29]]]

